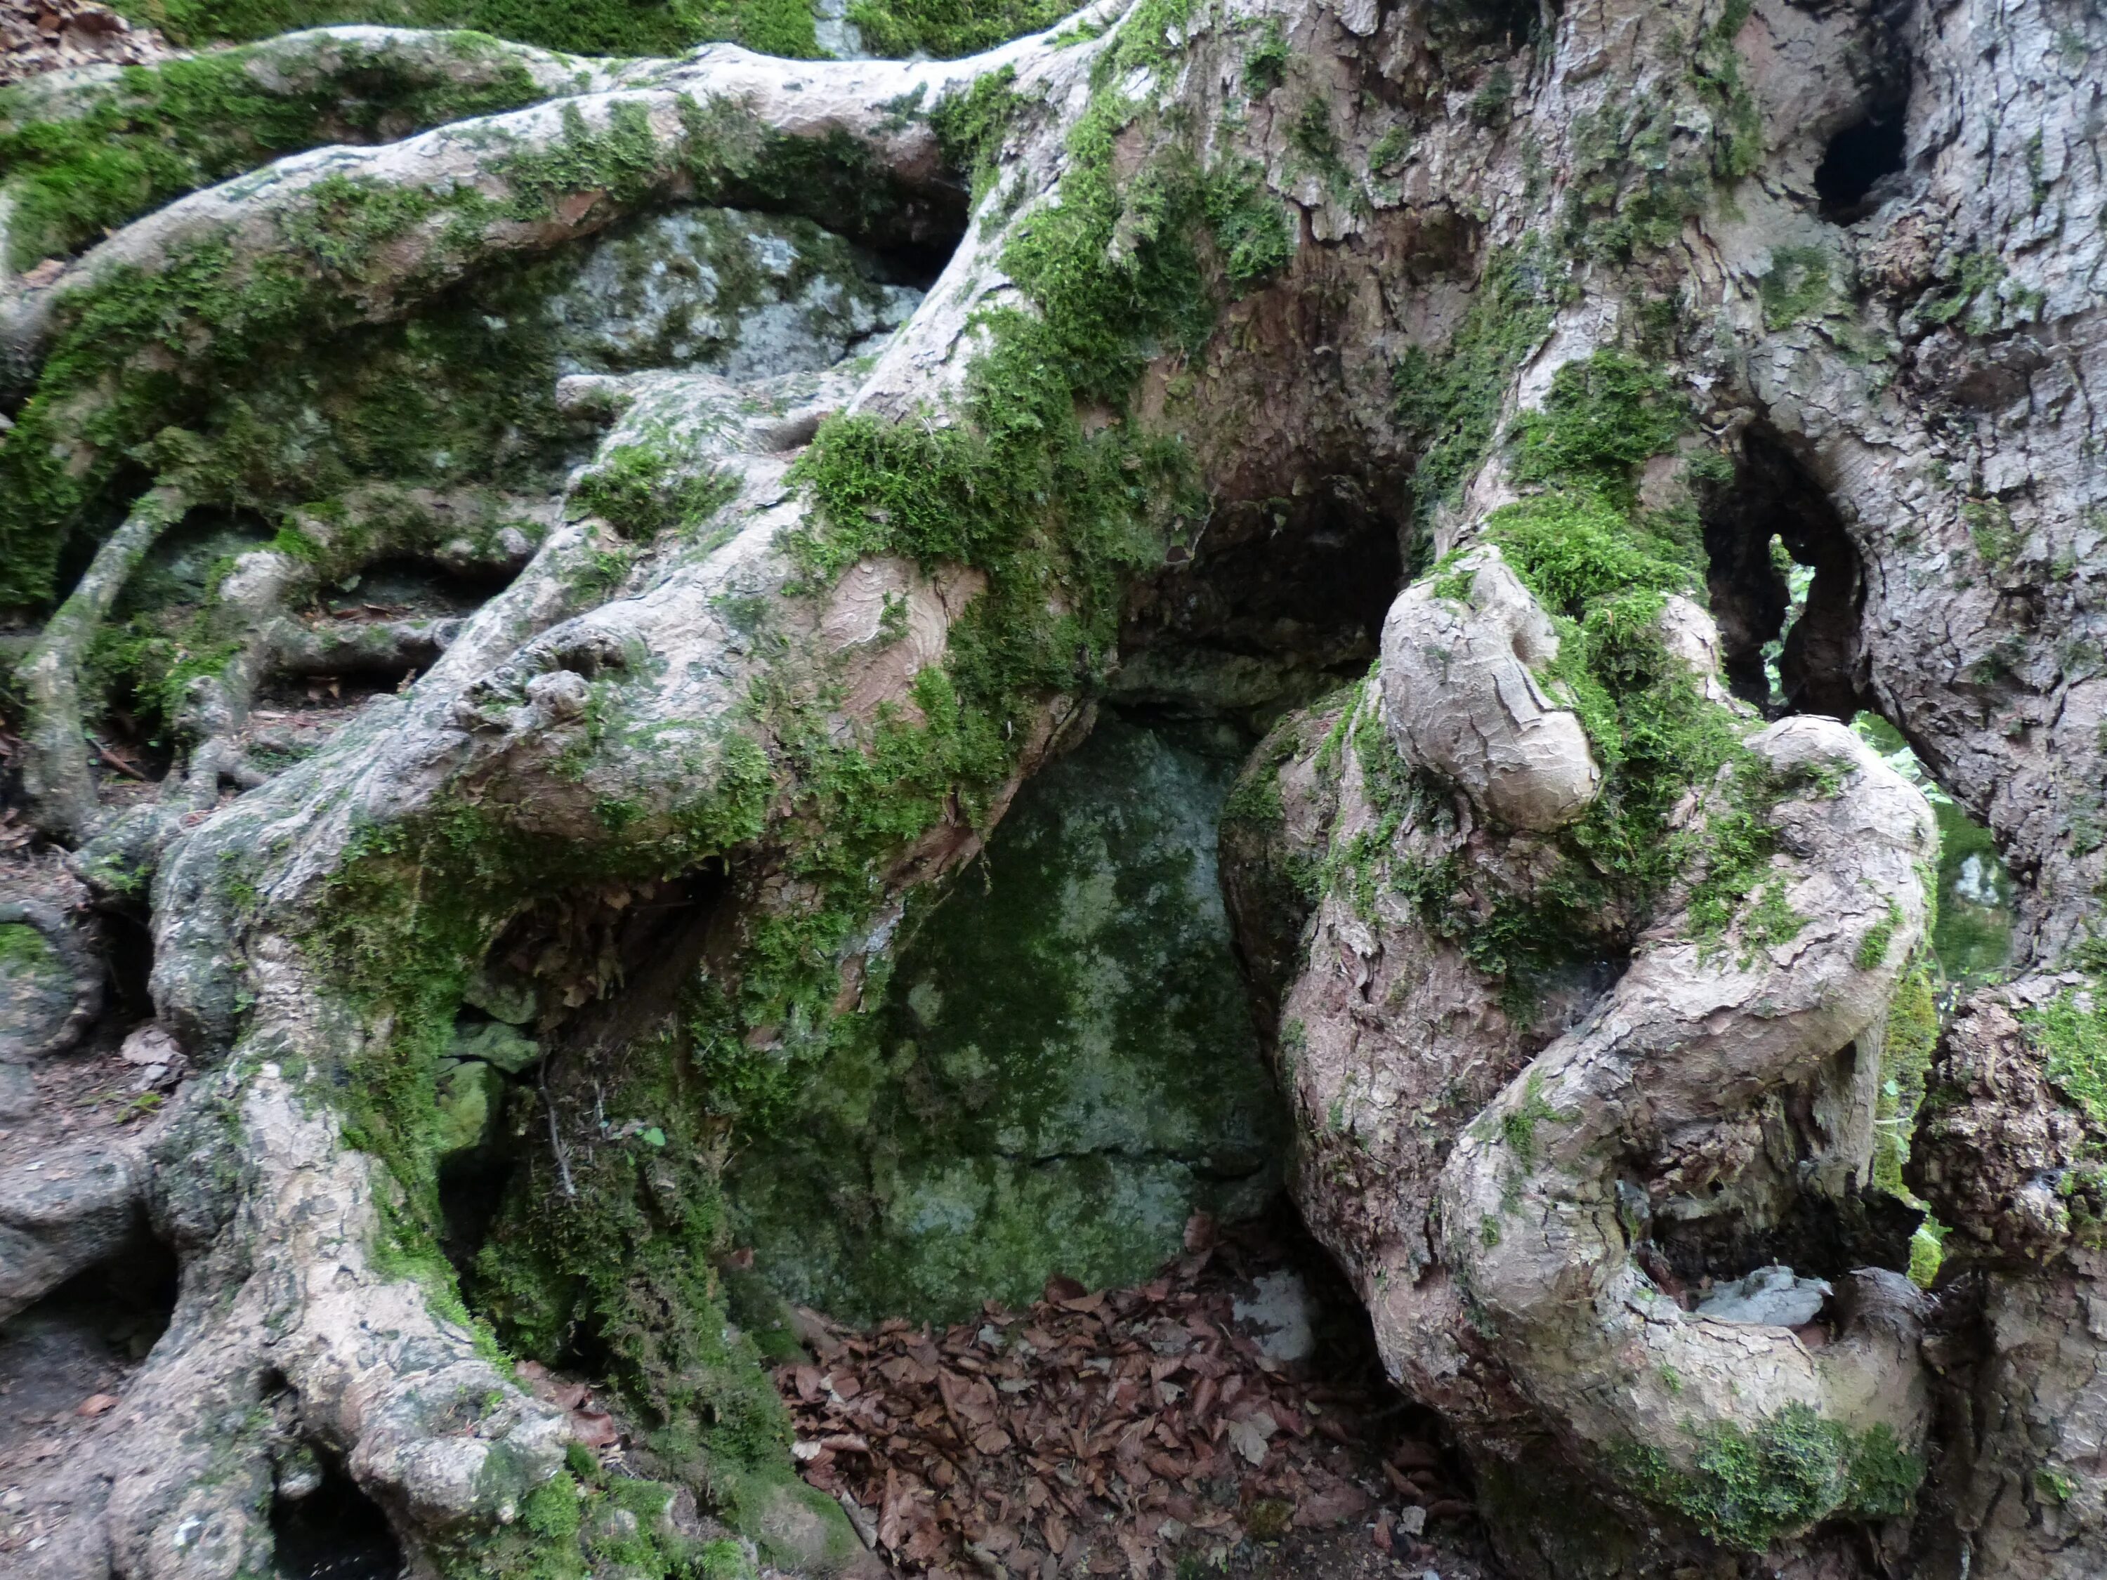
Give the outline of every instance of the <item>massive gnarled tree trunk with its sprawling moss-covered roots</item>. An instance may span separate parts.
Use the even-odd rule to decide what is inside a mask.
[[[1230,910],[1298,1207],[1502,1557],[2096,1574],[2103,44],[2046,2],[1106,0],[950,63],[253,46],[295,143],[371,59],[413,103],[282,156],[185,124],[215,152],[139,204],[202,190],[0,289],[19,788],[74,874],[13,857],[44,897],[0,921],[59,942],[23,1058],[97,1015],[51,904],[86,885],[147,925],[181,1074],[137,1131],[0,1138],[4,1310],[143,1235],[181,1264],[11,1563],[268,1574],[327,1473],[417,1574],[668,1574],[727,1529],[881,1567],[727,1323],[727,1154],[1123,666],[1241,647],[1296,676],[1245,706],[1306,699],[1321,632],[1245,617],[1294,586],[1395,600],[1245,769]],[[61,164],[0,175],[0,234],[84,240],[32,202]],[[796,297],[794,354],[470,409],[586,238],[727,204],[942,265],[864,356],[870,278],[832,327]],[[276,535],[124,649],[171,761],[120,788],[120,603],[230,520]],[[1397,586],[1321,584],[1342,533]],[[346,603],[400,565],[483,592]],[[360,670],[282,765],[263,699]],[[1860,710],[2023,883],[1913,1142],[1882,1093],[1928,1049],[1936,828]],[[476,1104],[527,1163],[464,1224]],[[643,1504],[582,1485],[529,1359],[615,1393]]]

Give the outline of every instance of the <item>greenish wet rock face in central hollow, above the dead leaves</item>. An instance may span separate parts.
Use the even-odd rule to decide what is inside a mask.
[[[868,1036],[727,1180],[756,1270],[843,1317],[1108,1287],[1277,1186],[1285,1114],[1216,885],[1245,742],[1108,718],[914,927]]]

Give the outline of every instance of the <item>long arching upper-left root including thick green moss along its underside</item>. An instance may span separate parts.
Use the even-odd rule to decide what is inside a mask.
[[[933,114],[1018,53],[792,65],[704,51],[653,88],[318,150],[126,225],[0,297],[0,398],[29,396],[0,432],[0,598],[51,596],[59,541],[217,369],[400,318],[501,255],[676,196],[936,240],[959,194],[929,114],[900,105]]]

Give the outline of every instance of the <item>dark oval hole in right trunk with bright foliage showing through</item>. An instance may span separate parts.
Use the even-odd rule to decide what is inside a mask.
[[[1738,449],[1732,480],[1700,501],[1728,687],[1774,718],[1850,723],[1869,706],[1858,548],[1776,434],[1751,428]]]

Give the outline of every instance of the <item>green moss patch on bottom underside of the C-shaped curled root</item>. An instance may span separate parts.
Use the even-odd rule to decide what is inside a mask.
[[[1755,1428],[1711,1426],[1692,1445],[1688,1468],[1637,1443],[1610,1464],[1650,1502],[1742,1553],[1764,1553],[1780,1536],[1839,1515],[1909,1513],[1924,1481],[1924,1460],[1905,1451],[1888,1426],[1854,1433],[1806,1405],[1787,1405]]]

